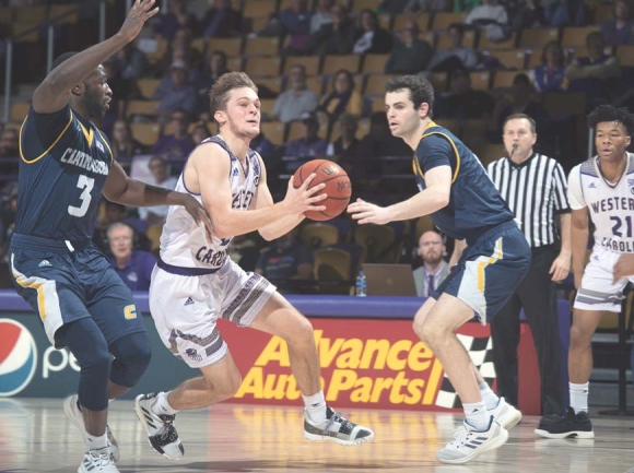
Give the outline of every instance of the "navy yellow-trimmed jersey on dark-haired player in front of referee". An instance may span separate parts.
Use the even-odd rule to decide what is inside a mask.
[[[488,229],[514,220],[478,157],[449,130],[432,121],[413,161],[420,190],[425,188],[425,173],[443,165],[451,168],[449,203],[431,216],[444,234],[473,241]]]

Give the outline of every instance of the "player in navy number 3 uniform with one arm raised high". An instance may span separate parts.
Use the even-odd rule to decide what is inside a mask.
[[[126,205],[184,205],[193,218],[206,218],[191,196],[129,179],[93,122],[113,95],[102,61],[134,39],[158,11],[153,5],[137,0],[116,35],[58,58],[33,94],[20,133],[11,274],[50,343],[68,346],[81,367],[79,395],[64,402],[84,436],[78,472],[118,472],[108,400],[137,383],[151,356],[131,292],[91,243],[101,194]]]

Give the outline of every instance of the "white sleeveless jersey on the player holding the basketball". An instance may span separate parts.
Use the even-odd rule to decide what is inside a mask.
[[[260,181],[261,165],[258,153],[251,149],[248,150],[246,170],[243,170],[238,158],[231,152],[220,134],[210,137],[200,144],[204,143],[216,143],[226,151],[226,157],[221,158],[231,159],[227,177],[231,181],[232,209],[248,210]],[[183,174],[178,178],[175,190],[188,192],[202,203],[200,194],[187,189],[183,181]],[[202,225],[197,225],[184,206],[173,205],[169,208],[161,235],[161,259],[173,267],[219,269],[227,258],[227,247],[232,238],[221,239],[214,236],[210,245]]]

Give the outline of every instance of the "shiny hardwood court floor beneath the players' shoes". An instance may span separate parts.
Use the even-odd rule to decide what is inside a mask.
[[[121,450],[121,473],[168,472],[437,472],[611,473],[634,469],[634,418],[594,416],[595,440],[537,437],[538,418],[510,431],[508,442],[466,465],[443,465],[435,451],[451,438],[450,414],[355,410],[349,417],[372,426],[375,440],[360,447],[305,441],[301,410],[220,404],[179,413],[186,457],[155,453],[131,401],[111,404],[109,425]],[[75,472],[83,444],[64,417],[61,400],[0,399],[0,473]]]

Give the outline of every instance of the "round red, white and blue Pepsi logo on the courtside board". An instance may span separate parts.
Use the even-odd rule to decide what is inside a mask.
[[[37,368],[37,347],[26,327],[0,319],[0,397],[17,394],[28,386]]]

